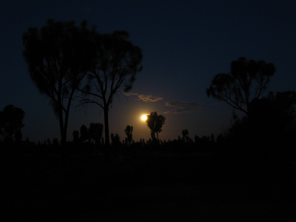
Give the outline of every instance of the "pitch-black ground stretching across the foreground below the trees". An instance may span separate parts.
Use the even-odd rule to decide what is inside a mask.
[[[252,176],[213,154],[141,152],[109,165],[98,154],[20,155],[1,165],[1,221],[296,221],[293,171]]]

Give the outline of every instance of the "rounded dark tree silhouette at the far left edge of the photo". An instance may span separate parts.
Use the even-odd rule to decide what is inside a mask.
[[[8,105],[0,112],[0,128],[3,129],[2,134],[9,136],[10,143],[12,135],[19,131],[25,125],[23,119],[25,112],[21,108]],[[21,134],[16,135],[17,139],[21,138]]]

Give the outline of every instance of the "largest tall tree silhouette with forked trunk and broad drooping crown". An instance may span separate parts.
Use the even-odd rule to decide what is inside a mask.
[[[77,27],[73,21],[48,20],[40,30],[29,28],[22,35],[23,57],[28,63],[30,77],[40,93],[50,98],[59,118],[63,144],[74,93],[86,75],[93,55],[90,33],[85,21]]]

